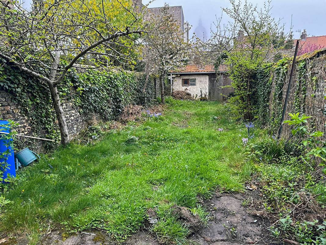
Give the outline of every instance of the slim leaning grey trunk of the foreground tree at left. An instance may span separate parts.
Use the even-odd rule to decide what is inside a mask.
[[[55,87],[53,84],[49,84],[49,88],[51,92],[53,106],[55,109],[55,114],[57,115],[57,119],[59,123],[61,144],[67,145],[69,143],[68,127],[66,123],[65,113],[62,109],[62,105],[59,97],[59,91],[57,87]]]

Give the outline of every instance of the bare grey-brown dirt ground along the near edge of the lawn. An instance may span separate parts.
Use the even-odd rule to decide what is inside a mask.
[[[251,191],[250,193],[256,193]],[[240,245],[240,244],[268,244],[272,241],[266,227],[270,224],[263,216],[248,214],[243,200],[247,196],[242,194],[221,195],[216,194],[209,200],[199,198],[199,202],[205,206],[211,217],[204,226],[198,215],[193,215],[188,208],[172,206],[174,215],[180,222],[185,223],[191,230],[188,238],[194,244],[199,245]],[[250,205],[249,205],[250,206]],[[150,227],[157,221],[154,209],[148,209],[148,221],[146,227]],[[151,222],[153,221],[153,222]],[[13,241],[13,240],[12,240]],[[26,245],[25,243],[9,243],[10,245]],[[6,243],[5,243],[6,244]],[[97,230],[85,231],[81,234],[62,238],[62,234],[54,231],[41,238],[40,244],[44,245],[115,245],[106,232]],[[125,245],[159,245],[157,238],[149,230],[141,230],[134,233],[123,242]],[[273,242],[273,245],[283,244]],[[2,245],[2,244],[1,244]],[[7,245],[7,244],[6,244]]]

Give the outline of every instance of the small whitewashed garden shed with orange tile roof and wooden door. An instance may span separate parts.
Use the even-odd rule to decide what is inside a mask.
[[[214,65],[187,65],[176,72],[170,73],[172,89],[189,92],[194,98],[206,97],[208,100],[223,101],[233,93],[233,88],[223,88],[231,85],[231,79],[224,64],[215,71]]]

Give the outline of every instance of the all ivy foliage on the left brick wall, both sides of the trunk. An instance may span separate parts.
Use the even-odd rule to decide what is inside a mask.
[[[71,71],[58,90],[61,99],[79,106],[83,115],[97,113],[102,119],[111,120],[118,117],[128,104],[148,105],[151,102],[155,96],[152,78],[149,78],[146,91],[142,93],[145,78],[144,74],[125,71]],[[60,133],[46,82],[2,61],[0,90],[12,94],[12,102],[20,106],[22,116],[28,118],[27,123],[34,136],[55,140],[55,144],[45,143],[45,150],[58,144]],[[18,148],[26,144],[19,141],[15,143]],[[36,144],[37,141],[28,141],[32,148]]]

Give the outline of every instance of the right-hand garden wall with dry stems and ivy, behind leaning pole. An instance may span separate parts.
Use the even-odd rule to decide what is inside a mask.
[[[265,120],[274,133],[277,133],[281,123],[282,110],[289,84],[292,58],[283,58],[266,69],[270,73],[270,80],[257,79],[257,86],[261,86],[258,93],[259,117]],[[266,76],[262,76],[266,77]],[[311,116],[308,121],[311,127],[325,132],[326,120],[326,49],[305,54],[297,58],[289,101],[286,108],[285,120],[288,113],[306,114]],[[263,92],[265,91],[265,92]],[[266,96],[269,99],[266,100]],[[287,138],[291,131],[289,125],[284,124],[282,136]]]

